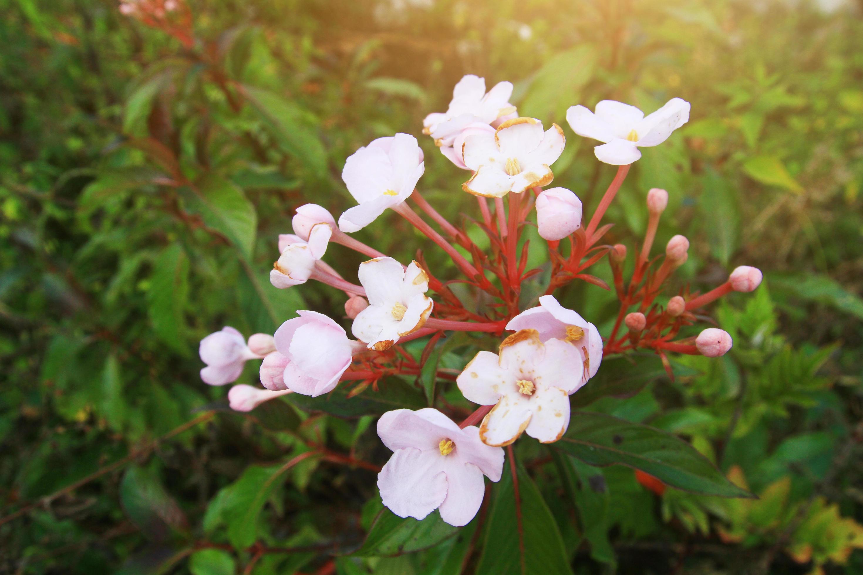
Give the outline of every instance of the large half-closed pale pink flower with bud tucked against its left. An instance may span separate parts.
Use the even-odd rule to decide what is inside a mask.
[[[268,355],[261,364],[261,384],[269,389],[284,386],[304,396],[318,397],[336,388],[353,353],[365,351],[365,347],[350,341],[342,326],[323,314],[303,310],[297,314],[299,317],[276,330],[275,348],[286,359]]]

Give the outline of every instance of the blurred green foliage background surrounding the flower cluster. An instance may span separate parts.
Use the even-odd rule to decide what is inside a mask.
[[[585,466],[573,505],[532,459],[573,570],[863,572],[863,3],[176,6],[147,20],[114,0],[0,0],[0,573],[458,572],[446,560],[459,538],[334,563],[379,509],[375,473],[310,458],[273,486],[249,466],[310,438],[381,465],[374,416],[230,413],[226,388],[200,381],[197,347],[224,325],[272,333],[295,309],[343,317],[339,292],[277,291],[267,274],[294,208],[354,204],[341,168],[375,137],[417,135],[425,198],[451,221],[477,216],[465,172],[420,134],[465,73],[513,81],[522,116],[564,127],[555,185],[591,211],[614,166],[565,126],[566,109],[690,101],[690,122],[633,166],[609,243],[632,253],[646,191],[662,187],[657,245],[692,244],[675,289],[709,290],[744,264],[765,272],[712,309],[731,353],[679,358],[675,382],[589,406],[683,436],[759,499]],[[384,217],[357,237],[400,260],[422,248],[438,277],[457,277]],[[356,254],[334,246],[327,259],[356,279]],[[560,298],[608,333],[608,293],[573,284]],[[249,365],[240,382],[255,381]],[[256,539],[290,552],[232,551]],[[471,549],[456,565],[482,572]]]

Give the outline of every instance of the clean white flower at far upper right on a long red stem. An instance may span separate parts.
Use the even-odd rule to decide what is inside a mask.
[[[576,134],[606,142],[595,147],[594,153],[600,161],[614,166],[632,164],[641,157],[639,147],[658,146],[689,120],[690,103],[679,97],[648,116],[635,106],[614,100],[597,103],[596,113],[581,105],[566,110],[566,121]]]

